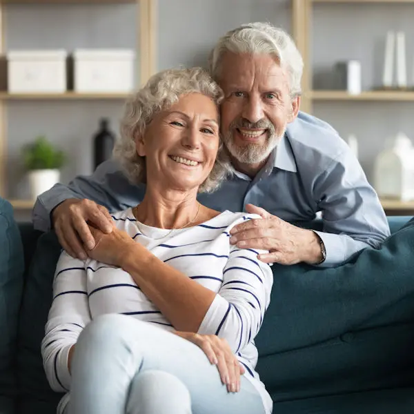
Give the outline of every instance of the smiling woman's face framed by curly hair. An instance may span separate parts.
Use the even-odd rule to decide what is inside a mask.
[[[179,101],[152,119],[137,152],[146,157],[147,185],[171,190],[198,188],[208,177],[219,146],[217,106],[201,93]]]

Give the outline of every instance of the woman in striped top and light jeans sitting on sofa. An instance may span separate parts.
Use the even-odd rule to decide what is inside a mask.
[[[115,153],[146,193],[110,234],[91,228],[90,258],[59,259],[41,346],[50,385],[66,392],[59,413],[271,412],[254,338],[272,272],[229,242],[255,217],[197,202],[226,172],[221,97],[194,68],[161,72],[128,101]]]

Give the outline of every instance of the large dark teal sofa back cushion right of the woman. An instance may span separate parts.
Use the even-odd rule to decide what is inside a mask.
[[[273,265],[257,369],[274,401],[414,386],[414,219],[344,266]]]

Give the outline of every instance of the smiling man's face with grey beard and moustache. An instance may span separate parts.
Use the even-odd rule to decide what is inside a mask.
[[[299,110],[299,98],[290,99],[286,70],[270,55],[226,52],[219,83],[224,144],[240,163],[261,166]]]

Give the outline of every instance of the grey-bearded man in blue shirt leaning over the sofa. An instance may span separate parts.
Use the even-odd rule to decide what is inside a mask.
[[[224,90],[221,133],[233,173],[199,199],[217,210],[259,213],[263,219],[240,224],[230,241],[269,250],[260,257],[264,262],[336,266],[366,246],[378,246],[389,228],[348,146],[331,126],[299,112],[302,68],[292,39],[267,23],[250,23],[219,39],[210,70]],[[81,242],[95,244],[86,221],[108,232],[107,208],[133,206],[143,195],[144,188],[106,161],[91,177],[41,195],[34,226],[47,230],[51,219],[62,246],[84,258]],[[309,221],[318,212],[322,232],[288,223]]]

